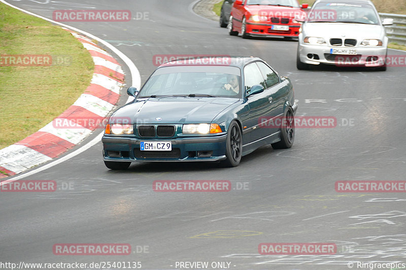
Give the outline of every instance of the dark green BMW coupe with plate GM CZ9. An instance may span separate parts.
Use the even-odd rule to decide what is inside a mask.
[[[169,61],[127,93],[135,99],[111,115],[102,139],[109,169],[187,161],[235,167],[262,145],[290,148],[294,141],[292,83],[260,58]]]

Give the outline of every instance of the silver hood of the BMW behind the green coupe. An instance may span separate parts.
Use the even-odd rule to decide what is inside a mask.
[[[303,36],[317,36],[329,39],[331,37],[355,38],[357,40],[365,38],[379,38],[383,41],[385,29],[381,25],[355,24],[355,23],[330,23],[313,22],[302,25]]]

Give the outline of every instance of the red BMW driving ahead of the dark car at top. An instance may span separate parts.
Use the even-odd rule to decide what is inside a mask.
[[[308,4],[297,0],[235,0],[228,21],[228,33],[248,36],[299,35],[300,22],[306,18]]]

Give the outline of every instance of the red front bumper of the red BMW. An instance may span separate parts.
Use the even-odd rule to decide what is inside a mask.
[[[289,30],[274,30],[273,25],[289,26]],[[297,37],[299,35],[300,25],[291,24],[275,24],[265,22],[248,22],[246,32],[252,36],[290,36]]]

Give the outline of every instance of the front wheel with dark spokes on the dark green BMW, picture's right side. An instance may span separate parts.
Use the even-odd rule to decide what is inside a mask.
[[[225,167],[238,166],[243,156],[243,136],[235,121],[228,127],[225,156],[226,160],[222,162]]]

